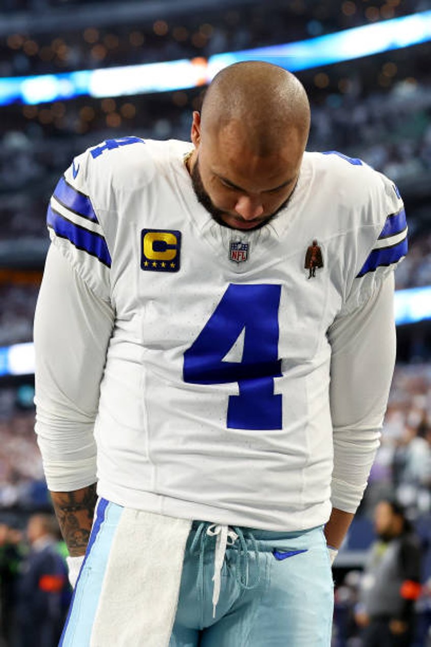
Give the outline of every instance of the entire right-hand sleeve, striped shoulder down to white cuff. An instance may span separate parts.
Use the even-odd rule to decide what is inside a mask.
[[[350,239],[346,293],[328,330],[334,467],[332,505],[355,512],[379,447],[395,364],[394,269],[407,252],[403,201],[370,168],[361,223]],[[349,252],[349,250],[348,250]]]

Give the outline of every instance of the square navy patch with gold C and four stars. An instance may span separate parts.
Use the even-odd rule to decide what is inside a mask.
[[[178,272],[181,232],[171,229],[143,229],[141,269],[148,272]]]

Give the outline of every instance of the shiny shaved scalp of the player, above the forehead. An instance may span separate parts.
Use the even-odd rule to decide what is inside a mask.
[[[226,67],[205,94],[202,134],[227,133],[247,141],[258,155],[284,146],[293,131],[304,148],[310,129],[310,105],[304,87],[290,72],[247,61]]]

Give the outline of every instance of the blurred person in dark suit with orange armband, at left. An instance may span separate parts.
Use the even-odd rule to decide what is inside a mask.
[[[67,567],[58,551],[58,525],[50,514],[28,520],[30,553],[17,598],[17,647],[56,647],[70,602]]]

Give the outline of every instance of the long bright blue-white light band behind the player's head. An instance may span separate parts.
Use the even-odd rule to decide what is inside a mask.
[[[209,59],[6,77],[0,79],[0,105],[35,105],[83,95],[101,98],[174,91],[205,85],[220,69],[239,61],[264,60],[297,72],[429,40],[431,10],[295,43],[216,54]]]

